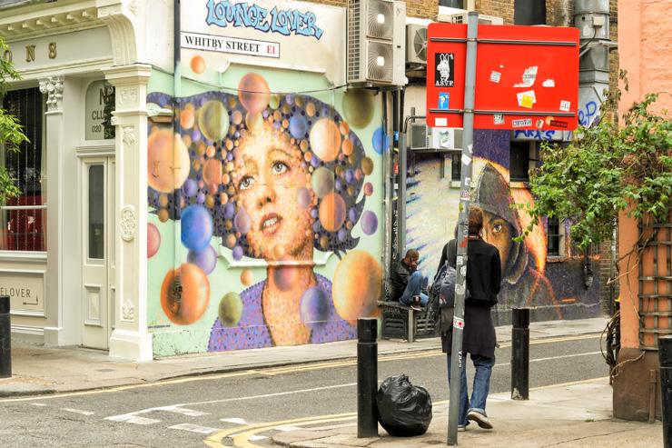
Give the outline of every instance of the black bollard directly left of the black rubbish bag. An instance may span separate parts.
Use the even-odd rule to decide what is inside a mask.
[[[358,319],[357,339],[357,437],[377,437],[378,319]]]

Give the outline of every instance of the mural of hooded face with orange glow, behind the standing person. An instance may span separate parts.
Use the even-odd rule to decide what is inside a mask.
[[[496,324],[510,324],[510,310],[530,307],[535,321],[594,317],[599,313],[598,282],[587,290],[583,259],[566,251],[557,263],[547,261],[547,234],[538,225],[522,242],[513,239],[529,224],[529,214],[515,204],[534,201],[524,185],[509,184],[509,132],[475,132],[471,199],[484,215],[483,238],[499,250],[502,286],[493,309]],[[415,155],[407,188],[407,245],[420,250],[420,269],[433,276],[440,251],[458,221],[460,188],[440,177],[436,155]],[[447,170],[450,173],[450,170]],[[450,175],[450,174],[449,174]],[[458,183],[459,184],[459,183]],[[437,191],[445,194],[438,195]],[[427,210],[437,212],[427,214]],[[593,269],[597,269],[594,265]]]

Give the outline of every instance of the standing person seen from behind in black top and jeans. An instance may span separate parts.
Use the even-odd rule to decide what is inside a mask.
[[[490,307],[497,304],[497,294],[501,283],[499,251],[486,243],[480,234],[483,228],[483,214],[479,207],[469,207],[469,236],[467,245],[467,287],[469,298],[464,306],[464,336],[460,367],[460,414],[458,431],[465,431],[469,421],[481,428],[492,429],[485,404],[488,399],[490,374],[495,365],[495,326],[490,316]],[[448,244],[448,263],[456,265],[457,244]],[[448,354],[448,381],[450,385],[450,350],[452,345],[452,325],[441,333],[443,352]],[[469,401],[467,390],[466,353],[471,355],[476,373]]]

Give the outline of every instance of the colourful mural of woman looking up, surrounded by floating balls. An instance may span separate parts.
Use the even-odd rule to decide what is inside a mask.
[[[311,95],[273,94],[251,73],[235,93],[181,98],[178,133],[150,129],[150,213],[175,224],[183,247],[166,252],[175,258],[168,272],[150,260],[150,275],[163,276],[150,300],[170,326],[193,326],[208,351],[225,351],[350,339],[354,320],[377,314],[380,253],[360,246],[379,238],[380,212],[366,205],[382,143],[372,133],[367,150],[351,128],[372,127],[373,110],[370,95],[360,108],[352,95],[342,116]],[[173,99],[154,93],[148,102]],[[165,238],[150,225],[148,255],[159,256]],[[329,277],[316,272],[316,254],[327,268],[337,258]],[[256,266],[265,278],[254,283]]]

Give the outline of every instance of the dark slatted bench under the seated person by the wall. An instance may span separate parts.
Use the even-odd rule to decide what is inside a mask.
[[[415,311],[410,306],[399,302],[378,301],[382,314],[382,338],[401,338],[409,343],[416,338],[434,337],[436,319],[431,313],[431,301],[422,311]]]

